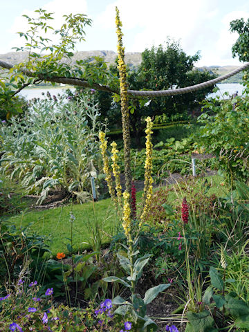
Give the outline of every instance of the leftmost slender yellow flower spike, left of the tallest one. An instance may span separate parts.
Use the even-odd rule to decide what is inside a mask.
[[[118,208],[117,199],[116,199],[116,195],[115,195],[115,191],[114,191],[113,183],[112,183],[112,179],[111,179],[111,169],[109,167],[109,160],[108,160],[108,156],[107,156],[107,140],[105,140],[105,133],[103,131],[100,131],[99,138],[100,138],[100,142],[101,142],[100,149],[101,149],[102,159],[103,159],[103,163],[104,163],[103,171],[106,176],[105,180],[107,181],[107,186],[109,189],[109,193],[111,195],[111,199],[113,200],[113,203],[116,205],[116,208]]]

